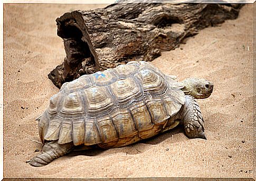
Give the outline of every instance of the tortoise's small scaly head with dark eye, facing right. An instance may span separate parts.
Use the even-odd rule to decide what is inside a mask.
[[[187,78],[183,82],[183,92],[186,95],[191,95],[197,99],[207,98],[212,94],[213,83],[204,78]]]

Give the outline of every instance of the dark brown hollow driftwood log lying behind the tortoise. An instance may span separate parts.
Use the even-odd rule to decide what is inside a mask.
[[[238,4],[112,4],[56,19],[67,56],[48,75],[61,87],[83,74],[129,61],[152,61],[200,29],[238,17]]]

